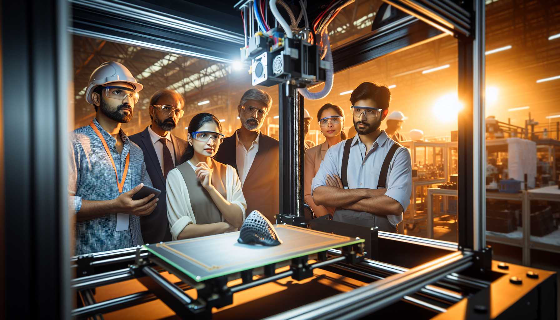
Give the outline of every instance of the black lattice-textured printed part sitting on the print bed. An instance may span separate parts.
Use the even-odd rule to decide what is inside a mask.
[[[251,212],[243,222],[237,242],[242,244],[262,244],[271,247],[282,244],[282,240],[278,239],[278,234],[270,221],[256,210]]]

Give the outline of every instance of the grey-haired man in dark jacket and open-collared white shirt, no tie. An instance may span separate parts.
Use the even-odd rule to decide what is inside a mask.
[[[237,106],[241,129],[223,140],[216,161],[233,166],[239,174],[243,195],[247,201],[246,214],[260,211],[273,224],[278,214],[278,140],[260,132],[272,97],[260,89],[243,94]]]

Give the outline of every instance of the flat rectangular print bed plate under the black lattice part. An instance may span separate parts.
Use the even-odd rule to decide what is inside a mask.
[[[292,225],[274,225],[282,245],[237,243],[239,231],[144,245],[165,267],[182,272],[195,282],[273,265],[329,249],[364,242],[363,239],[324,233]]]

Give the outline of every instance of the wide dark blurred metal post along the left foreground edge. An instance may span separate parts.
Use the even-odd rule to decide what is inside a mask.
[[[0,2],[7,319],[70,318],[69,7]]]

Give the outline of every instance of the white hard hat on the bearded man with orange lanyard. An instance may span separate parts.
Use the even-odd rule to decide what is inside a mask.
[[[134,87],[135,92],[142,90],[144,87],[136,82],[136,79],[134,79],[132,73],[128,71],[127,67],[114,61],[104,62],[91,73],[90,82],[86,90],[87,103],[94,104],[94,101],[91,100],[91,91],[93,91],[96,86],[109,84],[110,82],[127,82]]]

